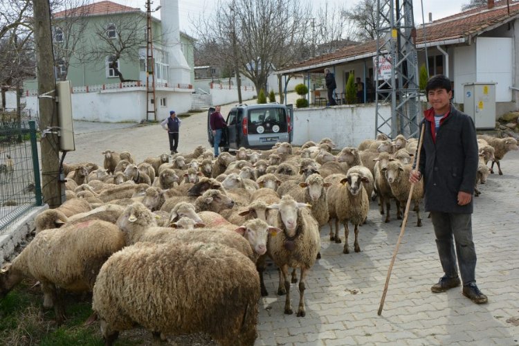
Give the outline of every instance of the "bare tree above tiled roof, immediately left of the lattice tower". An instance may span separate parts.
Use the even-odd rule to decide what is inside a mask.
[[[354,24],[354,35],[361,42],[376,38],[376,0],[362,0],[351,10],[343,11],[346,19]]]

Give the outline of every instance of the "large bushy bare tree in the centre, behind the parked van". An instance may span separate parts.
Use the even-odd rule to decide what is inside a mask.
[[[217,46],[215,61],[237,64],[259,91],[273,69],[295,61],[307,40],[308,19],[309,8],[297,0],[233,0],[220,1],[195,26],[200,44]]]

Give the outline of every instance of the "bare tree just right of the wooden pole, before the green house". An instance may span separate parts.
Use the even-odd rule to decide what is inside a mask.
[[[84,52],[78,51],[78,43],[84,37],[86,20],[89,15],[89,0],[57,0],[51,15],[53,21],[54,66],[57,78],[66,80],[73,61],[85,59]],[[57,11],[57,12],[56,12]],[[75,58],[75,59],[73,59]]]

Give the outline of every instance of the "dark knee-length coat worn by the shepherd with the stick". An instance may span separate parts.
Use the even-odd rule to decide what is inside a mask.
[[[474,192],[479,161],[474,122],[451,105],[434,134],[434,110],[428,109],[424,115],[419,171],[424,177],[426,211],[471,214],[473,199],[458,206],[457,193]]]

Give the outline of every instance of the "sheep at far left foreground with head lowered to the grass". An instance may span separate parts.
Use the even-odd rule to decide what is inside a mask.
[[[54,306],[60,324],[64,307],[57,287],[91,291],[104,261],[123,246],[122,232],[106,221],[87,221],[59,231],[43,230],[0,271],[0,298],[24,277],[34,277],[42,284],[44,307]]]

